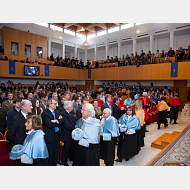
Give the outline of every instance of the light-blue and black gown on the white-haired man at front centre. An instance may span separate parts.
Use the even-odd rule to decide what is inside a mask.
[[[73,166],[99,166],[98,145],[100,142],[100,120],[92,117],[86,121],[80,118],[75,128],[80,128],[84,132],[83,139],[89,143],[88,147],[77,142],[75,149],[75,159]]]

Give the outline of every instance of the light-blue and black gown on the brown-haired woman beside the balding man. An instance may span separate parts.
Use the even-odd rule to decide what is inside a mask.
[[[127,114],[123,114],[119,120],[119,124],[126,125],[127,129],[134,129],[136,133],[127,135],[125,132],[120,133],[117,156],[118,158],[129,159],[136,155],[139,151],[138,136],[141,129],[140,121],[136,115],[127,120]]]

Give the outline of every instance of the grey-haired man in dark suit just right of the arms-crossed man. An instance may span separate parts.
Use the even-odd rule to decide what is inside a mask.
[[[64,142],[62,148],[62,164],[68,166],[68,158],[74,161],[75,156],[75,141],[72,139],[72,131],[75,129],[76,118],[73,114],[73,103],[71,101],[64,102],[64,109],[61,112],[62,119],[59,120],[61,125],[60,133]]]

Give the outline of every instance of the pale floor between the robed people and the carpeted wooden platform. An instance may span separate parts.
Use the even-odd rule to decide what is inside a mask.
[[[178,124],[175,125],[169,124],[169,126],[166,128],[164,128],[164,125],[162,124],[160,130],[157,129],[158,126],[156,122],[152,123],[151,125],[148,125],[147,130],[149,130],[149,132],[146,133],[146,137],[144,139],[145,146],[141,148],[140,152],[137,155],[130,158],[129,161],[125,161],[125,159],[123,159],[122,163],[115,162],[114,166],[144,166],[145,164],[147,164],[161,151],[160,149],[151,147],[152,141],[156,140],[164,133],[172,133],[173,131],[181,132],[185,127],[187,127],[190,124],[190,116],[181,115],[181,113],[179,113],[177,123]],[[117,158],[117,156],[115,158]],[[68,164],[71,166],[72,162],[68,162]],[[100,159],[100,166],[105,166],[104,161],[102,159]]]

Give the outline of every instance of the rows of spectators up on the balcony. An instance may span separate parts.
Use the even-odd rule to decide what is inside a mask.
[[[9,60],[6,56],[3,58],[4,51],[1,48],[0,51],[0,60]],[[187,49],[179,47],[178,50],[175,51],[170,47],[168,52],[165,52],[162,50],[159,52],[159,50],[156,51],[156,53],[151,53],[151,51],[148,51],[148,53],[145,53],[143,50],[141,50],[141,53],[138,54],[135,52],[135,54],[131,53],[131,56],[129,54],[122,55],[121,60],[118,61],[118,57],[115,56],[109,57],[107,56],[106,60],[104,63],[115,63],[118,62],[118,66],[129,66],[129,65],[136,65],[139,67],[142,64],[148,64],[148,63],[162,63],[162,62],[169,62],[170,57],[176,57],[176,61],[190,61],[190,46],[188,46]],[[163,58],[163,59],[157,59],[157,58]],[[50,57],[47,57],[47,61],[53,61],[54,66],[60,66],[60,67],[69,67],[69,68],[78,68],[78,69],[88,69],[90,68],[91,62],[88,59],[86,64],[84,64],[84,61],[82,59],[78,60],[77,58],[72,57],[72,59],[68,58],[65,56],[63,59],[58,55],[56,58],[54,58],[53,53],[51,54]],[[26,63],[30,63],[28,58],[26,59]],[[34,64],[38,64],[38,61],[35,60],[33,62]],[[96,61],[95,68],[99,68],[99,63]]]

